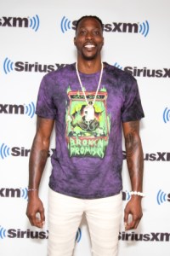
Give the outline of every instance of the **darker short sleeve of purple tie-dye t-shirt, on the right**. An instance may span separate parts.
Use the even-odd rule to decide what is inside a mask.
[[[124,93],[122,122],[135,121],[144,118],[144,110],[142,108],[139,87],[136,79],[133,77],[127,79]]]

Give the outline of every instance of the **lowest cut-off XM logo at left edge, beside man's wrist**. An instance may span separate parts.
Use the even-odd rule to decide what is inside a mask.
[[[12,197],[12,198],[23,198],[27,199],[28,197],[28,189],[20,188],[20,189],[0,189],[0,197]]]

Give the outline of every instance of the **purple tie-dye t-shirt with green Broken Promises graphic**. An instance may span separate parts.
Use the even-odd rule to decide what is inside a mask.
[[[136,80],[104,63],[94,106],[88,108],[75,63],[46,74],[37,115],[55,120],[56,148],[49,187],[64,195],[94,199],[122,190],[122,122],[144,117]],[[94,101],[99,74],[80,73],[88,102]]]

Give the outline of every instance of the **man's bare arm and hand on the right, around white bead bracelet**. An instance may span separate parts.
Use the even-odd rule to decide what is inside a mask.
[[[122,124],[125,148],[127,153],[127,168],[131,180],[132,191],[142,192],[143,172],[144,172],[144,154],[141,140],[139,137],[139,121],[131,121]],[[132,195],[124,210],[124,223],[126,230],[136,229],[142,218],[142,197]],[[132,220],[128,222],[129,214]]]

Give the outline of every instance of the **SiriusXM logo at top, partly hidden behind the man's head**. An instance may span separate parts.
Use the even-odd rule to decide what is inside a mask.
[[[71,20],[67,19],[63,16],[60,22],[60,28],[63,33],[67,32],[70,29],[76,29],[77,20],[71,22]],[[105,32],[127,32],[127,33],[140,33],[144,36],[144,38],[148,35],[150,31],[150,26],[148,20],[145,20],[141,23],[123,23],[123,22],[111,22],[107,24],[103,24],[103,28]]]

